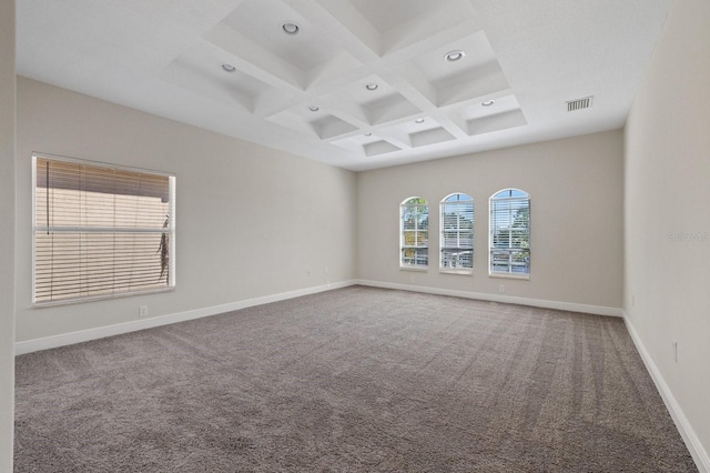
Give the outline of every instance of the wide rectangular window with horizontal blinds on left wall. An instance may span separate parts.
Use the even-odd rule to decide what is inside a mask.
[[[34,303],[175,285],[175,177],[34,154]]]

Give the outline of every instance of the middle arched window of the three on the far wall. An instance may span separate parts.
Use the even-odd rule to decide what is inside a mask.
[[[442,224],[440,259],[442,271],[474,271],[474,199],[463,193],[454,193],[440,203]]]

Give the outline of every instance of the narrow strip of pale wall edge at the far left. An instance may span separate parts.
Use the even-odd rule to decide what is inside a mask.
[[[14,0],[0,2],[0,471],[14,431]]]

